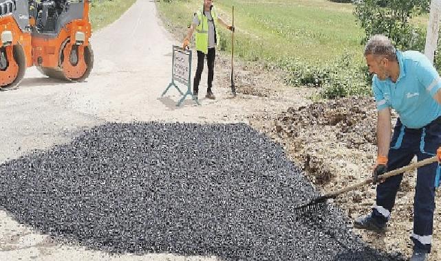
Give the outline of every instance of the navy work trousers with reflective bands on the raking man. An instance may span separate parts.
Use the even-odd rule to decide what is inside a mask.
[[[418,161],[433,157],[441,146],[441,118],[422,128],[407,128],[397,120],[389,149],[387,170],[407,166],[414,156]],[[433,234],[433,212],[435,210],[435,188],[439,185],[441,174],[438,162],[418,168],[415,196],[413,199],[413,240],[414,249],[431,251]],[[390,177],[378,184],[376,206],[373,216],[380,223],[390,218],[400,188],[402,174]]]

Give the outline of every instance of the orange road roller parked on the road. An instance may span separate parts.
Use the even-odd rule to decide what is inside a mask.
[[[0,88],[28,67],[50,78],[85,80],[94,65],[90,0],[0,0]]]

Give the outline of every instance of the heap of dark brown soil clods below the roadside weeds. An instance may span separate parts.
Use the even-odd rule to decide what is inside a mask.
[[[376,144],[376,107],[370,97],[351,97],[290,108],[278,118],[276,130],[299,137],[305,128],[332,128],[347,148]]]

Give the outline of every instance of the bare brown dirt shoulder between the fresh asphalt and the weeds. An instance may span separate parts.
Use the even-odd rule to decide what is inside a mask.
[[[161,19],[178,41],[183,38],[180,28]],[[235,59],[235,85],[239,93],[235,99],[257,95],[271,104],[265,109],[256,104],[255,113],[248,116],[249,123],[282,144],[288,157],[324,193],[369,177],[376,155],[374,99],[352,97],[313,102],[310,97],[317,89],[287,87],[282,78],[280,71],[268,71],[257,63]],[[215,83],[219,89],[230,86],[230,57],[226,54],[217,54]],[[354,229],[354,233],[376,249],[411,256],[413,245],[409,236],[413,228],[415,174],[405,174],[386,234],[379,236],[359,229]],[[353,219],[370,211],[375,195],[375,187],[371,185],[338,196],[334,203]],[[436,202],[441,205],[439,197]],[[441,260],[440,244],[441,210],[438,207],[430,260]]]

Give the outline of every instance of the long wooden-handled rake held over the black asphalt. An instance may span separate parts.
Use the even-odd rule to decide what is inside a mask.
[[[405,167],[402,167],[402,168],[398,168],[397,170],[391,170],[389,172],[386,172],[383,175],[378,176],[378,181],[383,181],[383,180],[385,180],[385,179],[387,179],[389,177],[398,175],[398,174],[400,174],[402,172],[407,172],[409,170],[414,170],[416,168],[420,168],[422,166],[426,166],[426,165],[428,165],[430,163],[433,163],[435,161],[438,161],[438,158],[436,156],[433,156],[433,157],[431,157],[429,159],[424,159],[422,161],[418,161],[418,162],[410,164],[408,166],[405,166]],[[338,196],[340,194],[343,194],[345,192],[349,192],[351,190],[355,190],[356,188],[360,188],[361,186],[363,186],[363,185],[365,185],[367,183],[372,183],[372,181],[373,181],[373,179],[369,178],[369,179],[366,179],[365,181],[362,181],[360,183],[356,183],[356,184],[350,185],[350,186],[348,186],[346,188],[342,188],[341,190],[337,190],[335,192],[331,192],[329,194],[325,194],[323,196],[319,196],[318,198],[313,199],[309,203],[306,203],[306,204],[301,205],[299,207],[295,207],[294,208],[294,212],[302,214],[303,212],[308,212],[310,210],[319,209],[319,205],[321,203],[326,203],[327,199],[336,198],[336,196]]]

